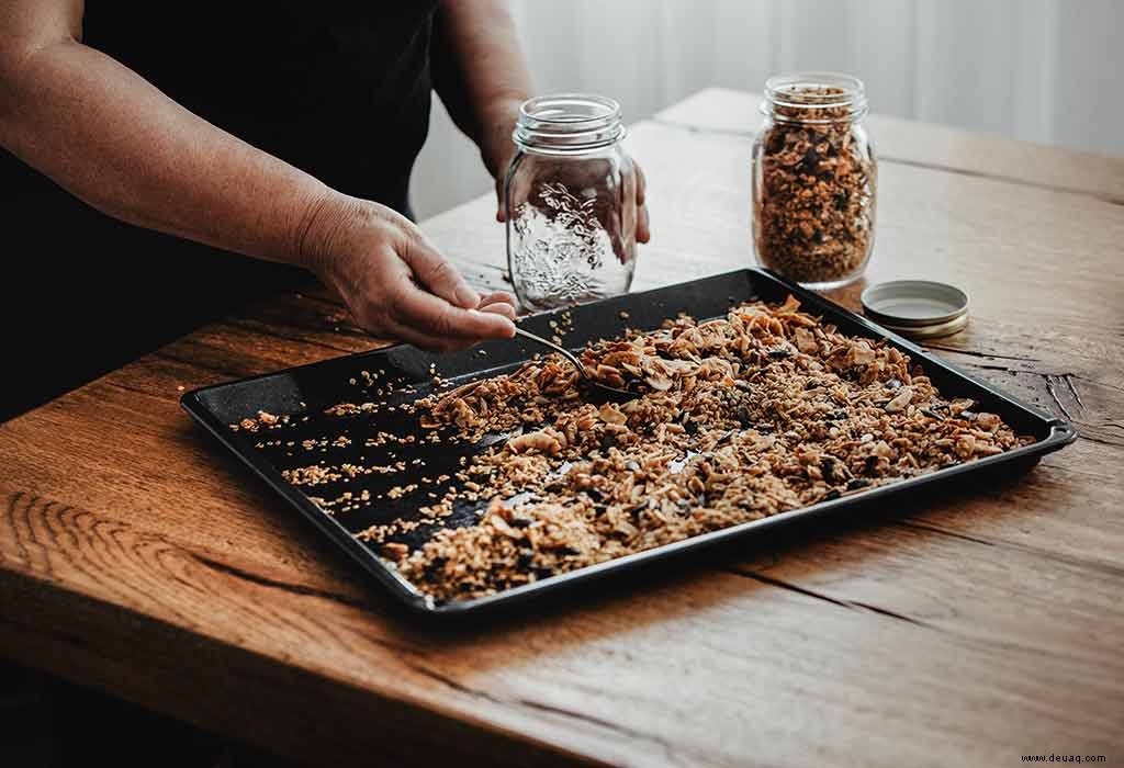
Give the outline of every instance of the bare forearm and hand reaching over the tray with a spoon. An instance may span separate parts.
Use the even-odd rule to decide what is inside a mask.
[[[382,337],[447,349],[514,333],[405,217],[193,115],[82,42],[81,0],[0,6],[0,145],[134,225],[307,267]]]

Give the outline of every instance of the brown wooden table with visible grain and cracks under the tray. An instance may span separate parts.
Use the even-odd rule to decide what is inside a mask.
[[[637,289],[751,263],[755,106],[708,90],[633,130]],[[325,765],[1124,764],[1124,159],[870,128],[870,278],[966,289],[970,328],[932,347],[1081,430],[1030,474],[414,627],[178,405],[372,346],[310,289],[0,427],[0,655]],[[480,286],[492,204],[426,225]]]

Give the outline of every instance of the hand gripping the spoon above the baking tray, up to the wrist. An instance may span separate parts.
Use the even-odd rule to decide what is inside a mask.
[[[515,336],[515,300],[481,298],[414,222],[384,205],[332,193],[302,231],[302,263],[372,336],[436,351]]]

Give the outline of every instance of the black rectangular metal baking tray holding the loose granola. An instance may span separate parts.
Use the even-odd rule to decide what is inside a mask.
[[[919,486],[962,481],[1000,465],[1027,466],[1042,455],[1058,450],[1077,438],[1077,431],[1070,423],[1042,415],[1015,397],[977,381],[865,318],[762,269],[741,269],[572,308],[569,312],[572,317],[573,330],[565,335],[564,344],[568,347],[581,348],[599,338],[616,336],[625,327],[645,330],[658,328],[665,318],[674,317],[679,312],[687,312],[698,319],[707,319],[724,316],[735,303],[751,300],[779,302],[783,301],[788,294],[796,295],[804,310],[822,316],[827,322],[835,323],[845,333],[885,339],[887,344],[910,355],[914,363],[921,364],[942,395],[971,397],[977,401],[980,410],[997,413],[1016,433],[1032,435],[1036,441],[997,456],[951,466],[918,477],[713,531],[596,566],[550,576],[488,597],[438,602],[415,589],[380,557],[375,545],[369,546],[356,539],[354,533],[374,523],[386,523],[396,518],[417,516],[417,509],[433,501],[427,495],[428,493],[436,493],[437,496],[442,494],[443,487],[441,485],[423,485],[419,491],[397,501],[383,499],[364,505],[362,509],[328,515],[300,488],[285,482],[281,472],[307,466],[320,459],[330,464],[359,463],[360,456],[363,456],[368,464],[391,464],[396,460],[406,463],[406,470],[398,473],[397,476],[364,476],[356,478],[359,482],[352,481],[347,485],[314,486],[310,491],[311,495],[321,497],[332,496],[346,490],[359,495],[363,487],[366,487],[371,496],[375,497],[392,485],[404,485],[423,476],[436,477],[443,473],[453,475],[460,468],[462,456],[479,452],[488,445],[504,439],[505,436],[486,437],[477,445],[422,442],[410,446],[368,447],[364,446],[364,440],[379,430],[399,435],[420,435],[423,430],[413,417],[400,412],[382,411],[373,417],[341,420],[324,415],[324,409],[338,402],[361,403],[386,400],[391,405],[413,402],[433,391],[434,371],[446,380],[447,385],[438,387],[444,390],[475,378],[513,371],[533,357],[538,349],[525,346],[518,339],[489,341],[473,349],[453,354],[430,354],[401,345],[196,390],[184,394],[181,404],[188,413],[218,438],[227,450],[244,461],[284,499],[289,506],[311,522],[327,540],[359,563],[366,573],[389,587],[409,609],[427,615],[475,614],[488,607],[510,605],[554,592],[561,587],[569,587],[610,573],[631,569],[641,564],[695,552],[737,537],[747,537],[752,531],[796,520],[807,520],[817,515],[834,515],[855,504],[883,500]],[[561,312],[545,312],[528,317],[522,320],[520,324],[533,332],[551,336],[556,330],[555,326],[562,320]],[[371,374],[379,371],[386,373],[379,376],[373,386],[365,387],[362,374],[364,371]],[[352,381],[355,384],[352,384]],[[416,391],[410,394],[398,393],[389,397],[380,397],[377,390],[387,381],[393,381],[399,386],[415,387]],[[257,433],[230,430],[230,424],[237,423],[246,417],[255,415],[259,410],[278,415],[288,414],[293,426],[280,431],[265,430]],[[307,421],[303,420],[305,417],[308,417]],[[326,424],[330,424],[333,429],[326,430]],[[320,452],[319,448],[312,451],[300,448],[302,440],[335,438],[341,433],[351,440],[350,445],[327,448],[325,452]],[[255,448],[255,444],[266,440],[280,440],[280,445]],[[288,446],[289,441],[294,445]],[[441,525],[422,525],[409,533],[400,534],[390,540],[417,546],[443,527],[471,523],[477,519],[477,510],[480,505],[482,504],[464,504],[454,509],[453,514],[444,519]]]

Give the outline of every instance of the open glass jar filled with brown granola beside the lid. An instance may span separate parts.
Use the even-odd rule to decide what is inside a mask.
[[[874,244],[874,148],[862,81],[832,72],[770,77],[753,144],[758,260],[806,287],[862,275]]]

